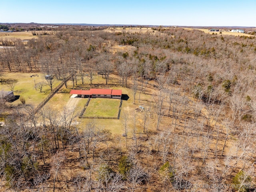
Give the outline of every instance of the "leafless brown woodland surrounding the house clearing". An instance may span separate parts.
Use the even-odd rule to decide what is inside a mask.
[[[100,72],[107,87],[114,74],[134,102],[154,89],[150,111],[143,112],[146,134],[134,131],[128,143],[93,121],[72,124],[72,111],[57,117],[51,110],[35,113],[33,106],[10,108],[1,99],[0,188],[254,191],[256,37],[154,31],[72,26],[26,42],[0,40],[6,46],[0,49],[2,72],[43,72],[64,82],[70,78],[78,88],[85,75],[92,82]],[[116,45],[129,49],[115,51]],[[129,118],[122,114],[120,135]]]

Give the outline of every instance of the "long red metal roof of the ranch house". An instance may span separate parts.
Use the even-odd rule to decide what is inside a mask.
[[[92,94],[122,95],[122,90],[114,90],[114,89],[71,90],[70,94],[78,94],[78,95],[92,95]]]

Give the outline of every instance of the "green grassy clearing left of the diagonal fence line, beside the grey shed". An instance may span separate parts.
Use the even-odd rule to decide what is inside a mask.
[[[30,77],[31,75],[37,74],[38,76]],[[31,104],[37,106],[44,98],[46,98],[50,92],[50,86],[48,84],[43,87],[42,92],[39,89],[35,89],[35,83],[44,82],[46,80],[44,75],[41,73],[12,73],[6,72],[3,73],[2,78],[4,79],[14,79],[17,83],[14,86],[14,95],[19,95],[25,98],[26,104]],[[60,84],[60,80],[54,81],[54,87]],[[10,91],[7,84],[0,84],[0,90]],[[12,103],[14,106],[21,104],[20,100],[16,100]]]

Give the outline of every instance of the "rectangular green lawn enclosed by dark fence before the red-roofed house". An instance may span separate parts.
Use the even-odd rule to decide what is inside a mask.
[[[84,116],[117,117],[119,104],[119,99],[92,98],[84,112]]]

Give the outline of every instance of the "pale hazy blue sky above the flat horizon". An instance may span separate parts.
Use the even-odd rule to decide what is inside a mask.
[[[0,0],[0,22],[256,26],[256,0]]]

